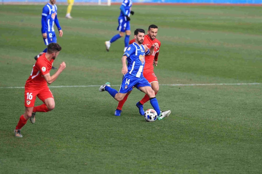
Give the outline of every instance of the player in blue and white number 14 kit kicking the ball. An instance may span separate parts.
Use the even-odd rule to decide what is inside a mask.
[[[116,99],[117,101],[121,101],[123,100],[125,95],[133,89],[134,86],[150,97],[150,104],[157,112],[157,119],[162,120],[163,118],[169,116],[171,111],[160,111],[155,92],[151,88],[150,83],[143,76],[145,55],[151,55],[154,51],[154,48],[159,47],[159,45],[157,43],[154,43],[152,44],[150,49],[147,49],[146,45],[142,45],[144,37],[145,30],[140,28],[136,29],[134,32],[135,42],[128,46],[122,57],[122,74],[124,74],[124,76],[119,92],[117,92],[116,89],[111,88],[109,82],[107,82],[105,85],[102,85],[99,88],[99,91],[107,91],[114,99]]]

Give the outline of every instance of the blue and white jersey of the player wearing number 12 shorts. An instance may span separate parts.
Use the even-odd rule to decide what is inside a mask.
[[[57,6],[48,3],[43,7],[42,11],[42,33],[54,32],[54,23],[60,30],[61,27],[57,19]]]

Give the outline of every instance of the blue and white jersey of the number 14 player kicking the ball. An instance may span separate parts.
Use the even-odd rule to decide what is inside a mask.
[[[143,77],[145,55],[149,53],[149,49],[147,52],[145,52],[144,45],[138,45],[135,42],[133,42],[133,44],[130,44],[124,53],[124,55],[127,56],[127,73],[135,77]]]

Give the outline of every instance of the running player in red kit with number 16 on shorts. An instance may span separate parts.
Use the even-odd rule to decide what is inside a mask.
[[[35,123],[35,112],[48,112],[54,109],[54,97],[47,86],[54,82],[59,74],[65,69],[65,63],[62,62],[60,67],[50,76],[50,70],[54,59],[61,51],[61,46],[57,43],[50,43],[47,46],[47,52],[43,53],[33,66],[33,70],[25,83],[25,113],[21,115],[14,133],[16,137],[23,137],[21,135],[21,128],[26,124],[30,118],[31,123]],[[34,106],[36,96],[43,101],[40,106]]]

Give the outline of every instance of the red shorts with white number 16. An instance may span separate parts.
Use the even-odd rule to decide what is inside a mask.
[[[39,88],[25,87],[25,107],[34,107],[36,96],[43,102],[47,98],[54,98],[47,85]]]

